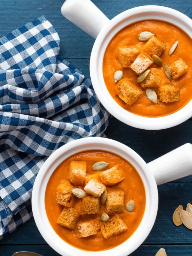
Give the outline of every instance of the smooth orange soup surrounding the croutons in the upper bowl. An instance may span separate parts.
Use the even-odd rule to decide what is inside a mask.
[[[116,59],[118,47],[124,45],[134,45],[139,47],[142,52],[142,47],[146,42],[141,42],[137,39],[137,35],[143,31],[149,31],[155,34],[155,37],[166,44],[166,48],[161,54],[163,66],[166,63],[170,66],[178,59],[182,59],[188,66],[187,72],[179,79],[170,82],[163,72],[163,66],[159,67],[153,63],[149,68],[160,68],[162,70],[162,84],[172,84],[180,89],[180,99],[172,103],[161,102],[158,99],[158,104],[152,103],[146,97],[145,89],[143,95],[134,104],[129,106],[116,94],[116,85],[114,83],[114,73],[117,70],[123,71],[122,79],[129,78],[134,84],[137,84],[138,75],[130,68],[122,68]],[[175,41],[179,41],[178,46],[172,55],[169,55],[170,48]],[[178,27],[165,23],[163,21],[142,21],[124,28],[118,32],[108,44],[103,60],[103,76],[110,95],[123,108],[131,113],[146,116],[160,117],[174,113],[184,107],[192,98],[192,40],[191,38]],[[140,85],[137,84],[139,87]],[[140,87],[141,88],[141,87]],[[142,89],[142,88],[141,88]],[[157,92],[158,88],[152,88]]]

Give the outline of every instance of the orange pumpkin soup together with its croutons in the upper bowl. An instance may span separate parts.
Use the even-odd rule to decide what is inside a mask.
[[[145,31],[154,36],[148,41],[139,40],[138,35]],[[176,41],[178,45],[172,53],[170,49]],[[153,48],[155,44],[156,50]],[[127,56],[126,51],[129,51]],[[154,63],[153,54],[161,58],[162,66]],[[141,58],[137,58],[138,55]],[[134,62],[136,58],[137,63]],[[146,65],[142,72],[150,69],[146,78],[148,81],[143,84],[137,83],[140,60],[140,68],[144,63]],[[165,74],[165,64],[170,67],[171,80]],[[123,76],[116,82],[114,74],[118,70],[123,71]],[[144,20],[134,23],[118,32],[108,44],[103,60],[103,76],[111,96],[129,112],[146,117],[174,113],[192,98],[192,40],[178,27],[163,21]],[[155,101],[147,97],[147,89],[155,91]]]

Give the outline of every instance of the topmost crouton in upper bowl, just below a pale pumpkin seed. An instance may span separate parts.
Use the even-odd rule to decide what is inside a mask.
[[[156,38],[155,36],[152,36],[146,44],[143,46],[143,51],[148,53],[151,57],[153,55],[160,56],[161,53],[165,50],[166,44]]]

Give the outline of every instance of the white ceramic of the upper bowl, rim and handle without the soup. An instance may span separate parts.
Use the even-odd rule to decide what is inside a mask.
[[[192,116],[192,100],[176,113],[163,117],[150,118],[128,112],[111,97],[102,71],[107,45],[124,27],[141,20],[164,20],[180,27],[192,38],[192,22],[189,17],[171,8],[146,5],[124,11],[109,20],[90,0],[66,0],[61,13],[96,38],[90,59],[91,81],[99,100],[113,116],[125,124],[147,130],[170,128]]]

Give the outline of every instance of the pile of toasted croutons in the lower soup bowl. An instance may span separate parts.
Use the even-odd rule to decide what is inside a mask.
[[[123,170],[115,165],[86,174],[86,169],[85,161],[70,162],[69,181],[62,181],[56,190],[56,201],[64,206],[57,224],[74,230],[78,238],[97,234],[100,229],[106,239],[126,231],[128,227],[119,215],[124,212],[124,191],[111,187],[125,179]],[[128,211],[134,211],[133,203],[128,202]],[[101,204],[105,204],[102,214]],[[86,216],[91,218],[86,220]]]

